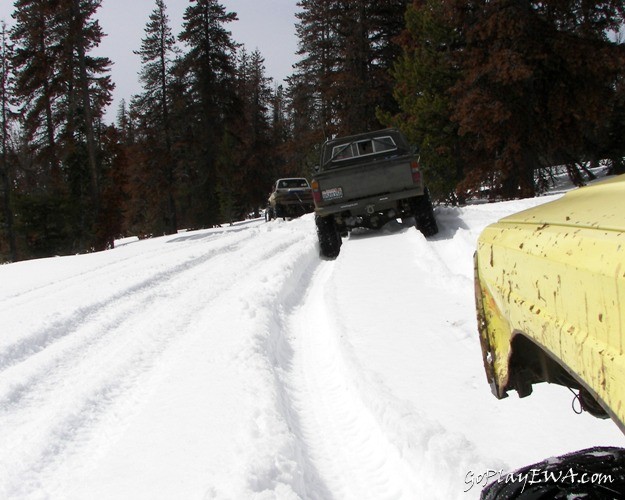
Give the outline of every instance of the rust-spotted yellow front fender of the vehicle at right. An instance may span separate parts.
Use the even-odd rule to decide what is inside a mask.
[[[625,432],[625,176],[488,226],[475,283],[497,397],[541,381],[569,386]]]

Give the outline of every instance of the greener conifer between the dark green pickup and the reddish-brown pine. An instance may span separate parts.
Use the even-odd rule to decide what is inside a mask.
[[[432,196],[455,203],[463,161],[458,127],[451,121],[449,89],[458,80],[452,55],[459,41],[448,20],[449,9],[438,0],[416,1],[408,7],[406,31],[399,38],[402,55],[392,71],[397,82],[393,95],[401,111],[379,115],[419,147]]]

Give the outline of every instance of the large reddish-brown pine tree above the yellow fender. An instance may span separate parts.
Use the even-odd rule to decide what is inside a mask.
[[[622,2],[617,2],[622,4]],[[533,196],[538,169],[592,159],[622,55],[613,2],[495,0],[458,8],[466,47],[454,119],[471,144],[469,181]]]

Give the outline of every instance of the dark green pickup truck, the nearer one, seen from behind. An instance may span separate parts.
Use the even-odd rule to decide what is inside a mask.
[[[438,232],[419,158],[396,129],[326,141],[312,183],[321,254],[336,257],[356,227],[381,228],[414,217],[425,236]]]

